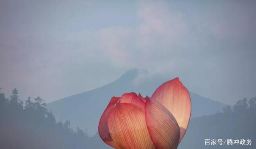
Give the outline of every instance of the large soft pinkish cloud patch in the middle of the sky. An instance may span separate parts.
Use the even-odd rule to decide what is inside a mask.
[[[164,55],[177,53],[178,50],[170,47],[180,44],[180,38],[186,33],[182,13],[172,12],[166,2],[159,1],[140,4],[137,17],[139,23],[136,26],[111,26],[94,32],[95,42],[92,44],[96,45],[92,46],[95,49],[92,52],[102,54],[113,65],[127,68],[171,66],[172,60]],[[160,61],[162,64],[159,65]]]

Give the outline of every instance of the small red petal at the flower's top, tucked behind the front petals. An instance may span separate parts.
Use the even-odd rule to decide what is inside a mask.
[[[142,109],[145,107],[144,101],[136,93],[124,93],[119,101],[120,103],[131,103]]]

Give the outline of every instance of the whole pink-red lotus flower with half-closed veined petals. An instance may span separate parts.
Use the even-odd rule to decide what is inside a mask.
[[[175,78],[160,85],[151,98],[140,93],[112,97],[98,131],[105,143],[117,149],[176,149],[190,113],[188,89]]]

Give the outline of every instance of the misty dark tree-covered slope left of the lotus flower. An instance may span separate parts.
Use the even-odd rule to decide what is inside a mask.
[[[100,149],[106,145],[96,133],[89,136],[70,121],[56,122],[40,97],[22,101],[18,90],[10,98],[0,92],[0,149]]]

